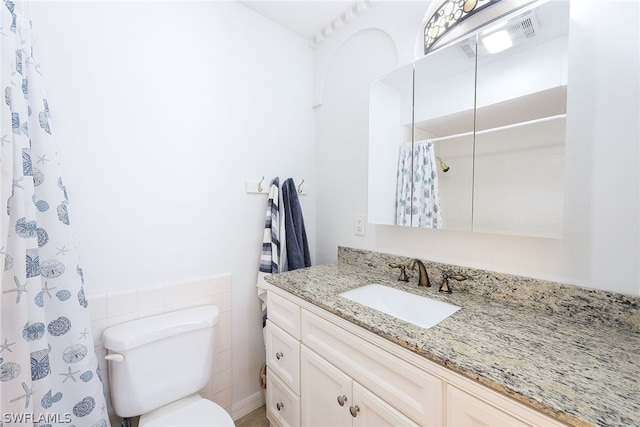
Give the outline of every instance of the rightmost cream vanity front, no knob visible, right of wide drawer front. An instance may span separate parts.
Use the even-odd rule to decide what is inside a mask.
[[[447,426],[521,427],[530,426],[530,424],[456,387],[447,385]]]

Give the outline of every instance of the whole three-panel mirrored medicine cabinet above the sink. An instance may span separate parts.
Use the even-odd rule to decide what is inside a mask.
[[[562,237],[568,28],[548,1],[373,81],[369,222]]]

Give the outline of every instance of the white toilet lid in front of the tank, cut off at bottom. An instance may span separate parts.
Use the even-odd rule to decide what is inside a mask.
[[[140,417],[139,427],[233,427],[233,419],[219,405],[191,395]]]

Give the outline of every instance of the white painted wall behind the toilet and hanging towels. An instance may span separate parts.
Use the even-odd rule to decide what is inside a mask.
[[[312,50],[235,2],[36,1],[31,16],[87,293],[230,273],[242,412],[262,396],[266,208],[245,181],[304,178],[315,241]]]

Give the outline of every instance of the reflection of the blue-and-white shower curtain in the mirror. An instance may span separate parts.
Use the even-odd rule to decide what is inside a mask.
[[[400,146],[396,225],[442,228],[435,147],[431,141]],[[412,173],[413,170],[413,173]]]

